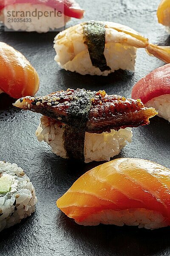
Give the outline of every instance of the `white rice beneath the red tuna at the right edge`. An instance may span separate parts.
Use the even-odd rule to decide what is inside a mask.
[[[170,122],[170,94],[155,97],[145,103],[146,107],[153,107],[158,111],[158,116]]]

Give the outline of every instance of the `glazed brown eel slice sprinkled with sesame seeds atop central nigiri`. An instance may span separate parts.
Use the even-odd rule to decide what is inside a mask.
[[[74,105],[74,108],[73,108]],[[18,99],[14,106],[41,113],[71,125],[71,118],[87,118],[88,133],[118,131],[120,128],[149,124],[149,118],[157,114],[154,108],[145,108],[140,99],[126,99],[119,95],[108,95],[85,89],[60,90],[47,96],[26,96]],[[88,107],[87,107],[88,106]],[[83,113],[84,112],[84,113]]]

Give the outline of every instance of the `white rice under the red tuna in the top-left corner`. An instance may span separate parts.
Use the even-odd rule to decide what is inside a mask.
[[[1,12],[0,12],[0,21],[2,21],[5,26],[8,29],[11,30],[23,30],[27,32],[48,32],[50,29],[56,30],[59,28],[62,28],[65,26],[65,24],[71,19],[71,17],[68,17],[64,14],[61,16],[55,17],[54,15],[51,15],[51,17],[28,17],[31,18],[31,22],[8,22],[8,12],[14,11],[15,13],[18,12],[34,12],[35,10],[38,10],[40,12],[45,12],[47,11],[48,13],[54,12],[54,9],[51,8],[50,6],[46,6],[43,4],[31,4],[31,3],[22,3],[22,4],[13,4],[6,6]],[[57,12],[57,11],[56,11]],[[22,18],[19,13],[17,15],[17,18]]]

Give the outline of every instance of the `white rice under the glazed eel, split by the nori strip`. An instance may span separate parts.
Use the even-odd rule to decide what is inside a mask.
[[[37,139],[45,141],[51,146],[54,154],[66,158],[64,142],[62,135],[64,124],[48,118],[41,117],[41,122],[36,131]],[[109,161],[111,157],[120,153],[120,150],[132,140],[131,128],[120,129],[119,131],[111,130],[111,133],[103,132],[102,134],[85,133],[84,155],[85,163],[91,161]]]

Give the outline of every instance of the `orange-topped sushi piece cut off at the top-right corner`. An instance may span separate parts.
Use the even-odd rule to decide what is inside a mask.
[[[158,22],[165,26],[170,34],[170,0],[161,0],[157,9]]]

